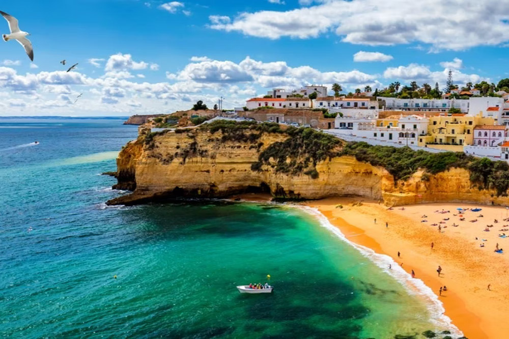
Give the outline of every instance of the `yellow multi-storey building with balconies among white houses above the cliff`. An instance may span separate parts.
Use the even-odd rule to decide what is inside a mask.
[[[417,144],[430,148],[463,151],[463,145],[473,144],[473,130],[477,125],[495,125],[492,117],[464,113],[430,116],[428,134],[419,136]]]

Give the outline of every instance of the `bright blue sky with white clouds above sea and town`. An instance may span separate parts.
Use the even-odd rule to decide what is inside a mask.
[[[393,81],[443,88],[449,69],[460,86],[509,77],[509,0],[24,0],[0,10],[34,46],[31,62],[0,40],[3,116],[171,113],[220,97],[233,108],[273,87],[334,82],[345,93]]]

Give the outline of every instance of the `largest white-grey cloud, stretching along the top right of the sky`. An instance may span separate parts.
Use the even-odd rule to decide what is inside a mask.
[[[335,32],[352,44],[421,42],[452,50],[509,41],[507,18],[509,7],[498,0],[322,0],[315,6],[290,11],[244,12],[233,20],[209,17],[213,29],[254,37],[306,39]]]

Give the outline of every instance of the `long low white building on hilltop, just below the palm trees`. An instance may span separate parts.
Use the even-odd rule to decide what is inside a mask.
[[[465,99],[399,99],[377,97],[385,101],[385,110],[389,111],[438,111],[447,112],[450,108],[459,108],[468,113],[469,100]]]

